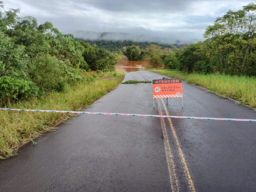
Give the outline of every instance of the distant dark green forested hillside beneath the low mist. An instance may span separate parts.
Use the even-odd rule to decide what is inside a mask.
[[[174,45],[171,44],[163,44],[163,43],[155,43],[155,42],[134,42],[134,41],[129,41],[129,40],[83,40],[87,43],[90,44],[96,44],[97,46],[103,48],[103,49],[107,49],[108,51],[111,52],[117,52],[117,53],[121,53],[123,51],[124,47],[128,47],[128,46],[139,46],[140,49],[146,49],[147,46],[151,45],[151,44],[156,44],[158,46],[161,46],[162,48],[175,48]]]

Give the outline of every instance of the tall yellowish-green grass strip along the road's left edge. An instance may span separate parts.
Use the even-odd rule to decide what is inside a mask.
[[[81,110],[121,83],[122,79],[97,79],[70,86],[64,93],[52,92],[42,98],[8,104],[8,108]],[[22,144],[51,130],[74,114],[0,111],[0,159],[15,155]],[[33,140],[32,140],[33,141]]]

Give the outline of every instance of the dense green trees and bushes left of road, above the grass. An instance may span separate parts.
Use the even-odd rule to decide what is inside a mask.
[[[52,23],[19,17],[0,1],[0,103],[40,96],[91,81],[85,71],[115,69],[112,53],[62,34]]]

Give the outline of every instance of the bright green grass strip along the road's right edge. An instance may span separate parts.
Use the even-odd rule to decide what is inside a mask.
[[[228,97],[240,104],[256,109],[256,78],[247,76],[230,76],[220,74],[181,74],[181,71],[156,71],[162,75],[204,87],[221,97]]]

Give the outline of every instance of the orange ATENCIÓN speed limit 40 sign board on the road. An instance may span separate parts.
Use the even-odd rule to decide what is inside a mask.
[[[179,98],[182,97],[181,79],[153,80],[153,98]]]

